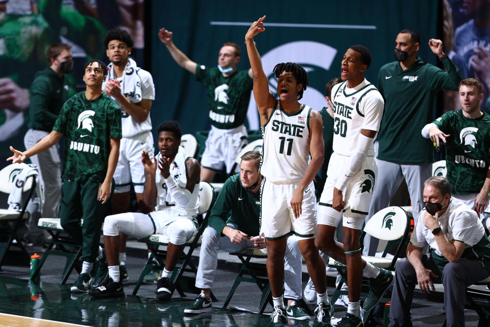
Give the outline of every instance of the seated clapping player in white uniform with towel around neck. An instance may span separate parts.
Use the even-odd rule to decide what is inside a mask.
[[[197,232],[199,207],[199,162],[186,157],[180,146],[182,130],[176,121],[165,121],[158,126],[158,148],[160,153],[151,158],[142,152],[144,165],[143,200],[154,205],[155,211],[145,215],[125,213],[106,217],[104,221],[104,244],[109,275],[90,290],[94,297],[110,297],[124,294],[119,275],[119,233],[129,237],[144,238],[152,234],[163,234],[170,238],[167,246],[165,268],[157,282],[157,298],[168,300],[173,285],[170,276],[182,254],[185,243]]]

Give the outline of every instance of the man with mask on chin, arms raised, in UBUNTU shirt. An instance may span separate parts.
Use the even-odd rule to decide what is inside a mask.
[[[173,32],[161,28],[158,36],[174,60],[195,75],[206,86],[211,130],[201,159],[201,180],[211,182],[217,171],[231,169],[248,134],[243,122],[247,118],[250,92],[253,88],[252,69],[237,71],[241,50],[236,43],[226,42],[219,50],[217,67],[197,64],[180,51],[173,41]]]

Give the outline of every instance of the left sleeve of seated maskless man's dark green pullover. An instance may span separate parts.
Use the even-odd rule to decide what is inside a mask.
[[[225,228],[226,221],[233,208],[233,199],[236,199],[234,193],[232,180],[228,178],[221,191],[219,191],[216,202],[211,209],[211,215],[209,216],[209,226],[213,227],[222,236],[223,228]]]

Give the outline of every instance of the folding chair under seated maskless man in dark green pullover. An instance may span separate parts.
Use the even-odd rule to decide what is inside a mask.
[[[260,298],[259,313],[262,314],[267,307],[267,303],[272,302],[271,286],[269,285],[269,278],[267,277],[267,267],[265,263],[250,262],[252,258],[255,259],[267,259],[267,249],[259,250],[255,247],[244,248],[238,252],[230,253],[230,255],[236,255],[242,262],[238,276],[235,278],[235,283],[226,297],[225,303],[223,303],[223,309],[228,307],[233,294],[235,293],[238,285],[241,282],[254,283],[262,291],[262,297]],[[247,273],[250,277],[244,277],[243,274]]]

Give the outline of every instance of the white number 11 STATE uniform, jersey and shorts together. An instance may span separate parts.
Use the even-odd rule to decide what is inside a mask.
[[[290,204],[310,161],[311,110],[307,105],[301,105],[298,112],[288,114],[278,100],[269,120],[262,126],[264,145],[260,173],[265,179],[260,191],[260,233],[270,240],[287,237],[290,233],[313,238],[316,231],[313,182],[303,194],[302,213],[298,219],[295,219]]]

